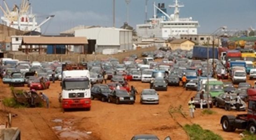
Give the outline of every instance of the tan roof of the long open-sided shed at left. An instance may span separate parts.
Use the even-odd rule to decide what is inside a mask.
[[[88,44],[86,37],[33,37],[24,36],[22,40],[24,45],[84,45]]]

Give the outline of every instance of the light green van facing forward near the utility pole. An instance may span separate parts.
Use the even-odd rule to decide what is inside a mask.
[[[206,83],[207,84],[207,83]],[[207,91],[207,86],[205,91]],[[209,81],[209,93],[212,98],[224,93],[223,82],[222,81]]]

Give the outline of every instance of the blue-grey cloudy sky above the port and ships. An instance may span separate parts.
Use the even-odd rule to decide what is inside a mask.
[[[0,0],[1,4],[3,3]],[[9,7],[21,0],[6,0]],[[54,14],[55,17],[43,25],[43,34],[57,35],[61,31],[78,25],[99,25],[112,27],[113,0],[29,0],[37,22]],[[127,21],[125,0],[115,0],[116,27]],[[153,2],[165,3],[167,7],[173,0],[149,0],[148,17],[153,16]],[[212,33],[221,26],[228,29],[244,30],[256,28],[256,0],[180,0],[185,7],[180,8],[180,17],[192,17],[199,21],[199,33]],[[130,0],[129,25],[136,28],[145,20],[145,0]],[[167,9],[170,15],[173,8]],[[2,15],[2,13],[1,13]]]

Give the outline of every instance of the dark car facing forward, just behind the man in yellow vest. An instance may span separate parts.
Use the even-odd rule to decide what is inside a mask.
[[[200,92],[198,92],[196,95],[195,95],[195,98],[194,98],[194,101],[195,101],[195,107],[200,107]],[[204,100],[203,100],[203,107],[207,107],[207,101],[208,101],[208,98],[207,98],[207,93],[204,93]],[[211,96],[211,94],[209,94],[209,105],[211,108],[213,108],[213,98]]]

